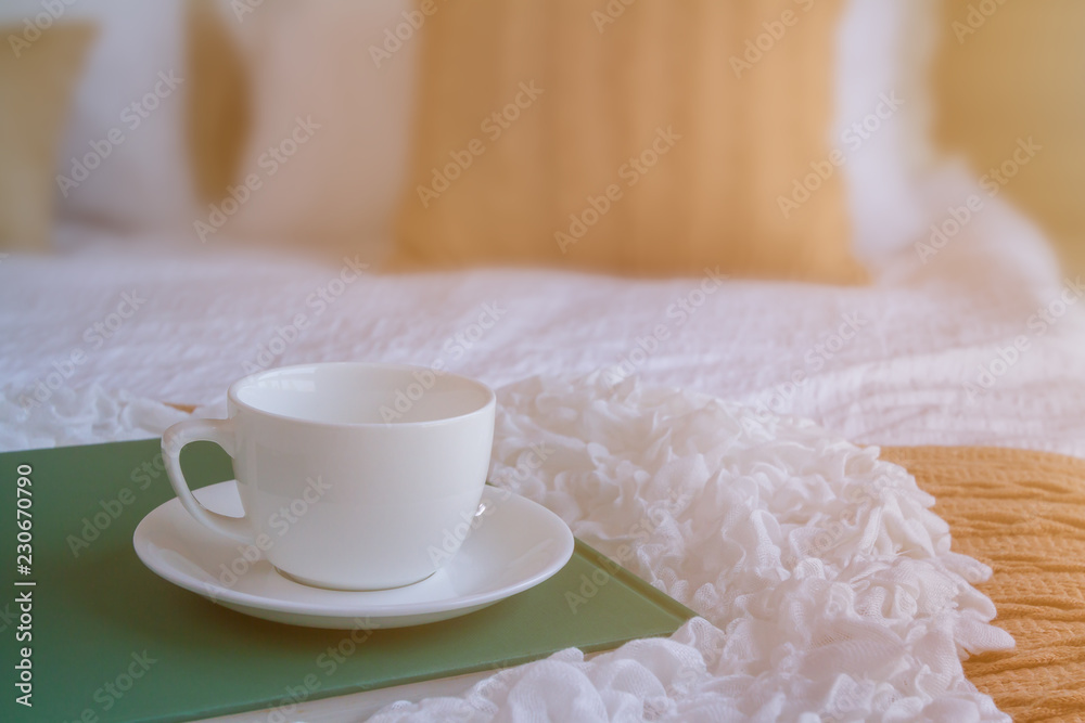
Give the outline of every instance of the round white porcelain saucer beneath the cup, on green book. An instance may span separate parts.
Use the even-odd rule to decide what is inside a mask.
[[[209,509],[242,514],[237,482],[195,491]],[[202,526],[174,499],[136,528],[136,554],[156,574],[213,603],[292,625],[309,628],[401,628],[467,615],[533,588],[564,567],[573,533],[546,507],[486,487],[481,519],[456,556],[433,576],[395,590],[345,592],[310,588],[279,574],[260,555],[242,556],[244,545]],[[488,514],[487,514],[488,513]],[[258,553],[250,548],[251,556]],[[239,561],[241,560],[241,561]],[[227,585],[224,568],[247,571]]]

